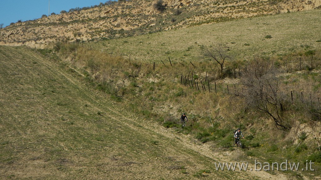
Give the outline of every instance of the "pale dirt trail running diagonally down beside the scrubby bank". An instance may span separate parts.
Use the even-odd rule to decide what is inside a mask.
[[[43,63],[47,64],[48,67],[54,68],[56,64],[49,62],[49,61],[42,61]],[[71,68],[71,67],[70,67]],[[56,68],[55,68],[56,69]],[[75,70],[77,73],[80,73],[79,71]],[[88,91],[88,87],[84,86],[79,80],[74,79],[70,77],[70,75],[65,74],[65,72],[58,70],[58,73],[63,75],[65,78],[67,78],[70,82],[72,82],[74,85],[77,85],[79,88],[81,88],[84,92]],[[81,74],[82,75],[82,74]],[[83,75],[82,75],[83,76]],[[100,94],[100,92],[97,92]],[[92,96],[95,96],[94,94],[91,94]],[[101,97],[105,96],[104,94],[100,94]],[[95,97],[92,97],[95,98]],[[97,110],[104,112],[108,117],[112,117],[113,119],[117,119],[119,123],[125,124],[126,126],[132,128],[134,131],[141,132],[143,134],[154,134],[156,133],[159,137],[166,137],[167,139],[171,141],[175,141],[176,143],[181,145],[181,148],[183,149],[190,149],[197,153],[199,153],[202,156],[205,156],[207,158],[212,159],[216,162],[235,162],[235,160],[232,160],[232,156],[234,154],[226,151],[224,153],[221,152],[214,152],[211,150],[210,145],[208,144],[202,144],[197,143],[191,137],[191,135],[183,135],[177,133],[177,131],[168,129],[165,127],[160,126],[158,123],[153,122],[151,120],[142,119],[135,116],[130,116],[130,112],[126,111],[122,107],[119,107],[118,105],[109,102],[106,102],[105,99],[107,97],[103,97],[101,99],[101,107],[96,107]],[[125,113],[124,113],[125,112]],[[119,120],[121,119],[121,120]],[[252,169],[252,170],[248,170]],[[246,173],[249,173],[252,176],[260,177],[261,179],[271,179],[271,180],[283,180],[283,179],[289,179],[289,177],[285,176],[282,173],[276,172],[274,175],[269,174],[265,171],[255,171],[254,165],[252,162],[249,162],[249,166]],[[237,170],[238,171],[238,170]]]

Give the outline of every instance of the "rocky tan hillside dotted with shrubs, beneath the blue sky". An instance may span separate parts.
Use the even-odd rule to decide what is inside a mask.
[[[88,41],[137,36],[163,30],[235,19],[311,10],[320,0],[164,0],[162,12],[156,0],[111,2],[82,11],[73,11],[17,22],[0,29],[1,45],[45,47],[56,41]]]

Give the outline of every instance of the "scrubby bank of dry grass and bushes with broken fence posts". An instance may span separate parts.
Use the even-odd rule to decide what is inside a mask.
[[[195,135],[216,151],[233,151],[232,132],[240,127],[247,157],[281,160],[282,154],[289,160],[318,162],[310,154],[317,154],[320,144],[319,49],[234,59],[222,70],[210,60],[155,64],[76,44],[57,43],[56,50],[72,60],[89,85],[127,110]],[[189,118],[183,128],[182,112]],[[307,126],[312,130],[303,132]]]

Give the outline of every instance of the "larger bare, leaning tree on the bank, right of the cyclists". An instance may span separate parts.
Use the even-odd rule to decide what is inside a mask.
[[[257,56],[245,68],[241,77],[242,93],[247,105],[269,115],[281,130],[290,128],[283,117],[288,105],[285,94],[280,90],[278,70],[268,59]]]

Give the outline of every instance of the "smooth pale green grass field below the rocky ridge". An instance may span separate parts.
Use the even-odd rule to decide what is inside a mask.
[[[84,43],[86,47],[139,61],[199,61],[204,47],[223,44],[235,59],[321,47],[321,10],[291,12]]]

